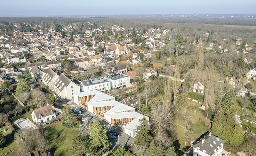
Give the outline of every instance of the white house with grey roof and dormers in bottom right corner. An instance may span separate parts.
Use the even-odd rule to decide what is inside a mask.
[[[208,133],[197,141],[193,147],[194,156],[217,156],[223,151],[225,141]]]

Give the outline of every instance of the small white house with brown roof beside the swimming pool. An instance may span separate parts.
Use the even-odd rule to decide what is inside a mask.
[[[59,112],[57,112],[57,115]],[[56,111],[52,105],[47,105],[38,109],[34,109],[31,113],[32,120],[35,123],[45,123],[56,117]]]

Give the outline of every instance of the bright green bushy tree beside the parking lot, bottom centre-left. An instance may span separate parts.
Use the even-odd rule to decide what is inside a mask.
[[[107,132],[99,120],[92,123],[92,127],[90,128],[90,139],[92,149],[98,149],[108,143]]]

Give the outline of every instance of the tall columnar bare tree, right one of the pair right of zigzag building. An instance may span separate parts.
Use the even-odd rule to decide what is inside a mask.
[[[174,106],[177,105],[177,99],[179,97],[179,93],[180,93],[180,70],[176,70],[174,77],[173,77],[173,81],[172,81],[172,90],[173,90],[173,104]]]

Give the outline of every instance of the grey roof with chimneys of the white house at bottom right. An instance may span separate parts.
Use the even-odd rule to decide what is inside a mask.
[[[206,154],[213,155],[215,153],[214,150],[218,150],[218,147],[221,148],[225,143],[224,140],[222,140],[219,137],[216,137],[212,135],[211,133],[208,133],[204,136],[203,139],[200,139],[196,142],[195,145],[193,145],[193,148],[199,148],[200,151],[206,151]]]

